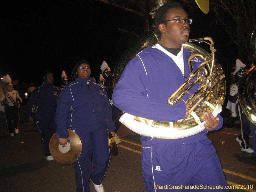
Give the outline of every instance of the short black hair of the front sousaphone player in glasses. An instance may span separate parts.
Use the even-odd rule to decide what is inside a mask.
[[[158,33],[159,37],[161,37],[161,32],[158,29],[158,26],[163,23],[166,25],[167,21],[167,13],[169,9],[172,8],[182,8],[183,9],[183,5],[180,4],[179,2],[168,2],[164,5],[162,5],[161,7],[158,8],[158,10],[156,11],[156,17],[155,17],[155,28],[156,28],[156,32]]]

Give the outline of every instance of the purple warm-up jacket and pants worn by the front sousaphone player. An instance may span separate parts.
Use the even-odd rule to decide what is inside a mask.
[[[168,105],[167,100],[189,77],[188,57],[191,54],[183,48],[183,75],[167,54],[148,46],[125,67],[113,93],[113,104],[131,115],[155,121],[173,122],[184,118],[186,104],[180,100],[177,105]],[[200,63],[198,58],[192,60],[194,70]],[[195,89],[197,87],[194,86],[190,92],[193,93]],[[183,98],[187,100],[188,97],[187,94]],[[221,128],[223,121],[218,117],[220,123],[216,129]],[[180,139],[156,139],[141,135],[141,162],[146,191],[211,191],[204,189],[206,185],[222,185],[225,188],[227,182],[220,160],[206,136],[207,132],[204,129]],[[174,185],[184,187],[173,190]],[[202,189],[185,188],[195,185],[202,185]]]

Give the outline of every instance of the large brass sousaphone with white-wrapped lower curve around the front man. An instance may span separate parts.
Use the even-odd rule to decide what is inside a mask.
[[[153,5],[153,8],[151,9],[151,14],[154,15],[156,9],[167,1],[164,2],[159,0],[152,2],[153,3],[151,6]],[[202,7],[205,6],[202,5]],[[206,10],[205,12],[208,11]],[[120,118],[120,122],[122,122],[126,127],[138,134],[149,137],[176,139],[187,137],[202,131],[204,129],[203,124],[205,112],[211,111],[215,117],[221,112],[221,105],[224,101],[226,92],[226,83],[223,70],[220,64],[214,58],[214,52],[216,50],[214,49],[212,38],[205,37],[196,40],[189,40],[189,42],[190,43],[185,43],[182,45],[186,49],[195,53],[190,56],[189,61],[191,61],[194,57],[200,57],[202,60],[204,60],[204,62],[198,69],[193,69],[191,63],[188,63],[191,71],[190,77],[188,78],[188,81],[182,84],[180,88],[173,93],[168,100],[168,104],[175,104],[181,99],[180,96],[186,94],[193,84],[200,83],[202,85],[199,88],[200,90],[191,94],[192,96],[189,98],[189,100],[184,101],[186,104],[194,103],[193,107],[189,110],[190,115],[186,119],[176,122],[157,122],[125,113]],[[203,48],[193,44],[192,42],[204,42],[209,44],[211,53],[205,51]],[[124,54],[117,61],[114,70],[113,88],[115,88],[119,78],[121,77],[126,64],[148,45],[154,45],[156,43],[158,43],[158,36],[155,29],[151,28],[139,37],[137,43],[131,44],[125,50]],[[202,70],[204,71],[204,74],[200,74],[200,71]],[[197,76],[196,81],[190,82],[194,76]],[[198,102],[195,103],[196,100]]]

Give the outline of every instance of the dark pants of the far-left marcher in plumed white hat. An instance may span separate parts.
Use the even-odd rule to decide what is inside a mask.
[[[13,133],[14,128],[16,128],[16,129],[18,128],[18,123],[20,120],[19,106],[18,105],[14,105],[14,106],[6,105],[4,107],[4,113],[5,113],[8,130],[10,133]]]

